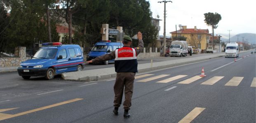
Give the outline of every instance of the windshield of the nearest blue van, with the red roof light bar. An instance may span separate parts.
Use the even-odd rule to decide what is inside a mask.
[[[53,59],[58,49],[56,48],[44,48],[38,50],[33,56],[34,59]]]

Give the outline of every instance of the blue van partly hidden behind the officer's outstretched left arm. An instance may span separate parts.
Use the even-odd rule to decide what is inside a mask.
[[[111,42],[111,41],[100,41],[97,42],[92,50],[87,55],[87,61],[95,59],[98,56],[105,55],[112,51],[115,51],[117,48],[122,48],[124,45],[121,42]],[[114,59],[105,61],[103,64],[107,65],[108,63],[115,62]]]

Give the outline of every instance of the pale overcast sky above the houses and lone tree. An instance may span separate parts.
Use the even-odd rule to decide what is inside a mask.
[[[160,16],[160,35],[164,33],[164,3],[163,0],[147,0],[150,2],[152,17]],[[170,0],[166,0],[170,1]],[[256,0],[171,0],[166,3],[166,35],[175,31],[175,25],[186,25],[187,28],[208,29],[211,27],[204,23],[204,13],[218,13],[221,21],[218,23],[216,34],[256,34]]]

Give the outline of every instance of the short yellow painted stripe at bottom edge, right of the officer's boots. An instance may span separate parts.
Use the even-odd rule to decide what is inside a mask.
[[[178,123],[190,123],[193,121],[205,108],[195,107],[191,112],[189,112],[181,121]]]

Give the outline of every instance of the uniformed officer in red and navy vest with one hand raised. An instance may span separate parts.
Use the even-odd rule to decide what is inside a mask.
[[[100,57],[96,57],[87,63],[94,63],[94,62],[103,62],[108,61],[111,59],[115,59],[115,72],[117,72],[115,85],[114,85],[114,92],[115,92],[115,99],[114,99],[114,114],[118,115],[118,108],[122,103],[122,96],[124,92],[124,118],[128,118],[131,116],[129,114],[129,109],[132,105],[132,93],[133,93],[133,83],[134,83],[134,76],[135,73],[138,72],[138,62],[137,62],[137,55],[143,50],[143,41],[142,41],[142,34],[138,32],[138,39],[139,44],[136,48],[130,48],[132,44],[132,38],[124,35],[122,43],[124,46],[122,48],[116,49],[109,54],[102,55]]]

